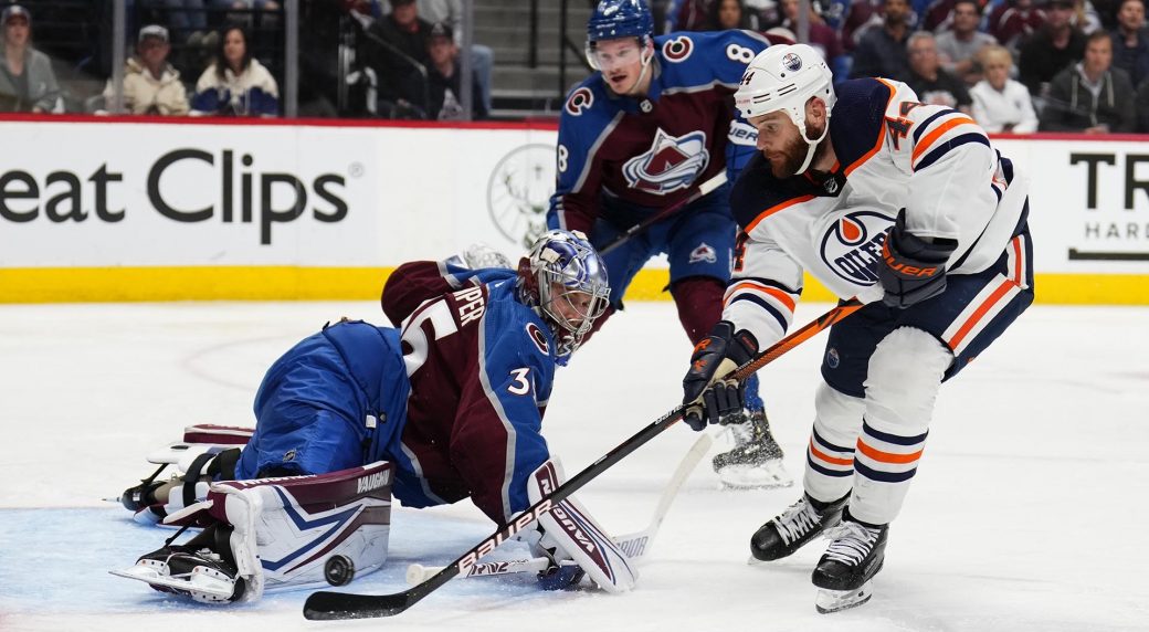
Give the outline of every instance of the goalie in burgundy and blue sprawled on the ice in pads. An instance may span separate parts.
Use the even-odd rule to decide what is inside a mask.
[[[391,275],[383,307],[402,326],[344,319],[276,361],[241,450],[182,445],[183,476],[129,490],[138,516],[206,529],[117,575],[207,602],[340,584],[386,560],[392,494],[416,508],[470,498],[502,525],[561,484],[542,415],[556,365],[606,308],[604,267],[569,231],[540,237],[517,270],[458,263]],[[593,546],[549,514],[539,524],[525,533],[556,572],[585,571],[611,592],[633,585],[625,555],[589,518],[580,524]]]

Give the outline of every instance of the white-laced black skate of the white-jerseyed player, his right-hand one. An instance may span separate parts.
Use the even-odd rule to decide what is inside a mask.
[[[889,525],[870,526],[854,521],[849,510],[840,525],[827,532],[834,541],[813,569],[820,588],[816,606],[822,614],[862,606],[872,596],[870,583],[886,558]]]

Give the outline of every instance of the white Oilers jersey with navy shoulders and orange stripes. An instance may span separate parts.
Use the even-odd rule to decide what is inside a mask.
[[[731,193],[743,234],[723,318],[762,348],[789,326],[803,271],[842,299],[880,295],[866,290],[900,209],[913,234],[957,240],[951,275],[996,262],[1027,211],[1027,183],[967,115],[920,103],[886,79],[846,82],[836,92],[830,139],[838,163],[827,177],[776,178],[759,154]]]

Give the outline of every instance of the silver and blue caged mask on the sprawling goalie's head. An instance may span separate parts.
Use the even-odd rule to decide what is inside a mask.
[[[519,296],[533,308],[558,346],[561,363],[583,344],[607,309],[607,267],[581,232],[542,233],[518,262]]]

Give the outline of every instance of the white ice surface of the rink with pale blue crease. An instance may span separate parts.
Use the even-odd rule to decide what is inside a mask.
[[[826,309],[803,305],[795,323]],[[854,610],[813,609],[823,541],[746,563],[796,487],[722,492],[705,463],[622,596],[455,580],[392,619],[325,623],[302,618],[307,591],[217,608],[109,576],[171,531],[100,499],[149,473],[145,454],[184,425],[254,423],[264,369],[344,315],[383,319],[371,302],[0,306],[0,630],[1149,630],[1146,308],[1034,307],[942,388],[876,595]],[[824,342],[759,373],[799,479]],[[566,471],[672,408],[688,354],[670,303],[615,316],[558,373],[545,432]],[[579,498],[614,532],[645,526],[692,440],[670,429]],[[492,531],[466,501],[393,522],[393,563],[348,589],[402,589],[407,564],[447,563]]]

